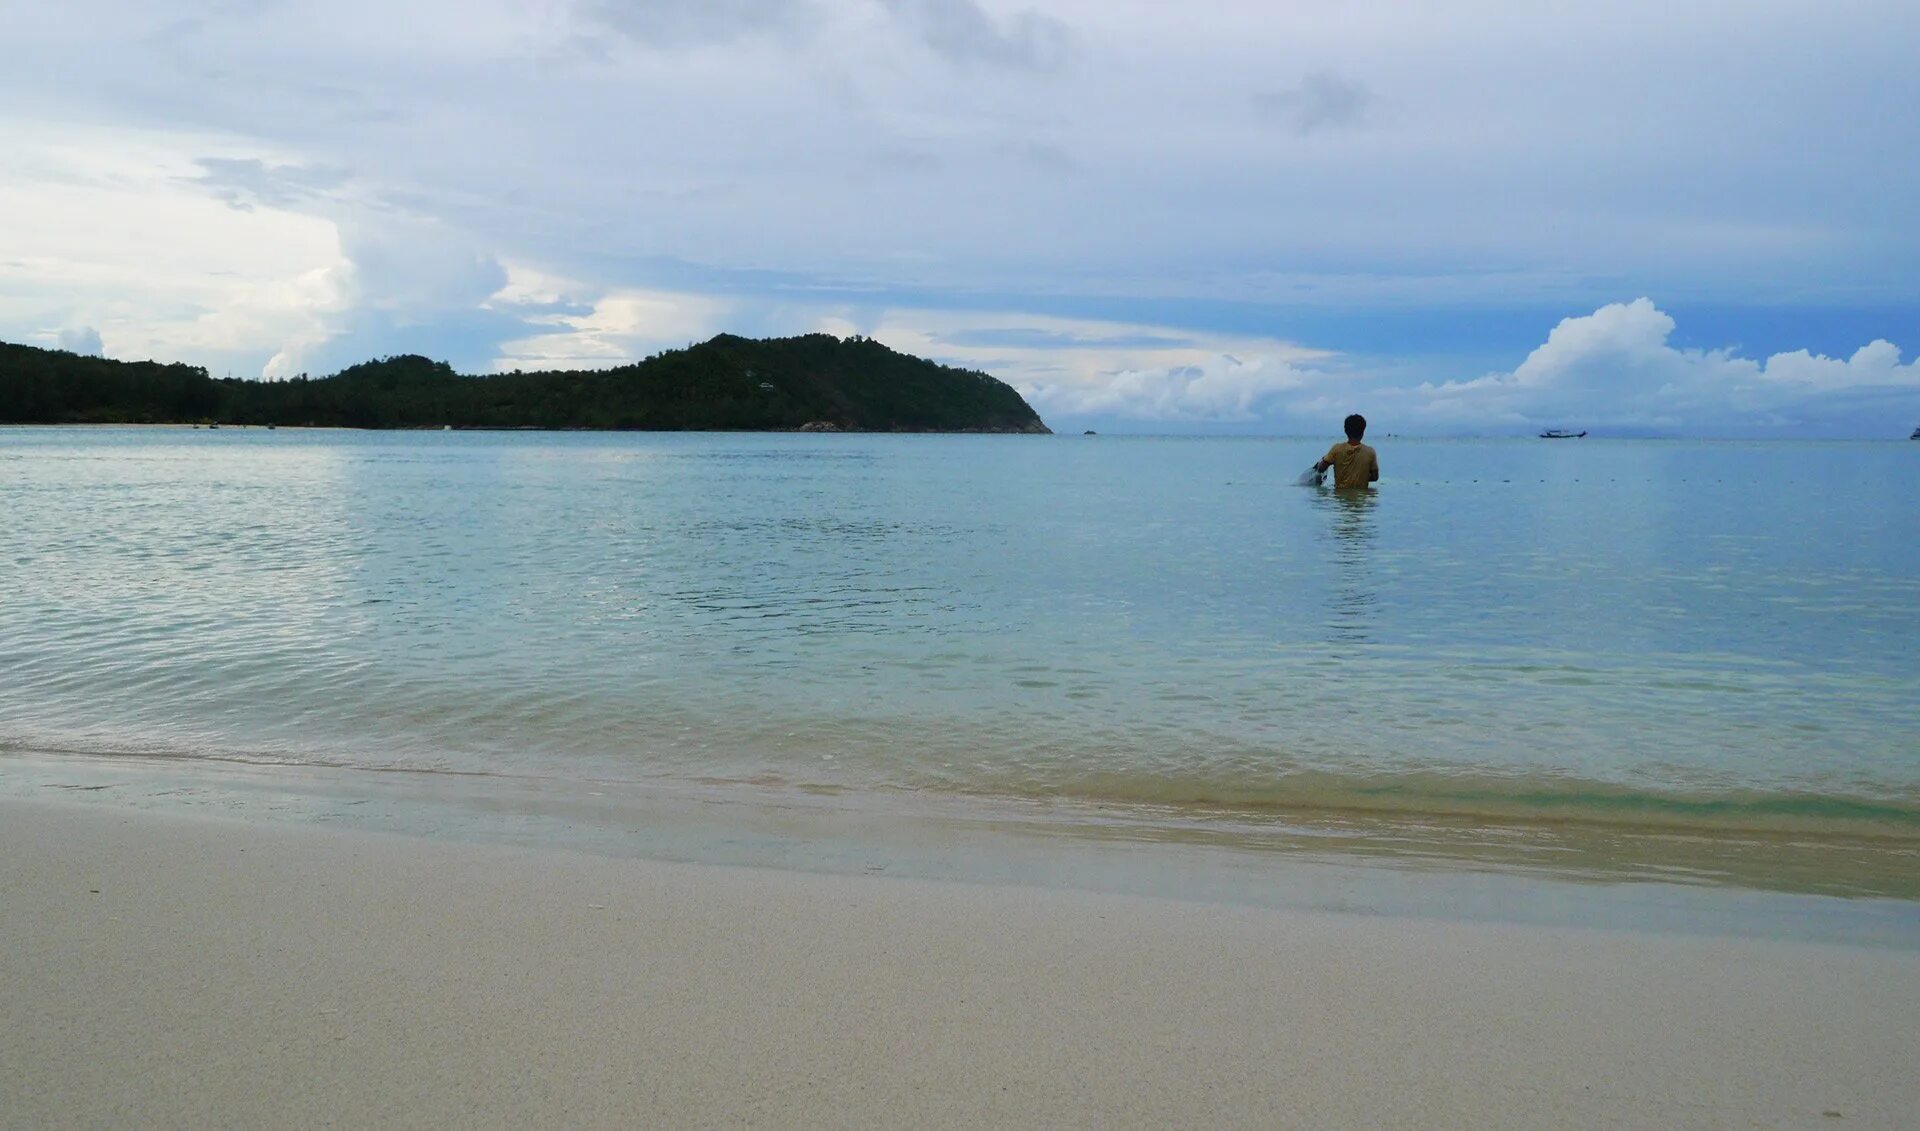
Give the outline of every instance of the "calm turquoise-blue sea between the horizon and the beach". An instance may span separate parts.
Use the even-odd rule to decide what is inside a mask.
[[[1327,444],[0,428],[0,789],[1920,939],[1920,444]]]

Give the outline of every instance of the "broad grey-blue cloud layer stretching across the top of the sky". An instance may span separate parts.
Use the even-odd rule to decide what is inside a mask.
[[[493,255],[576,275],[618,253],[1169,301],[1263,300],[1290,275],[1331,280],[1306,301],[1411,284],[1446,301],[1490,273],[1534,309],[1914,298],[1920,204],[1872,190],[1910,180],[1920,152],[1920,115],[1878,113],[1920,94],[1889,56],[1920,19],[1897,0],[1768,6],[1716,67],[1686,60],[1724,44],[1724,12],[1653,0],[1283,19],[1256,0],[1204,19],[1144,0],[123,8],[15,21],[0,106],[248,138],[202,150],[234,161],[202,171],[234,204],[309,209],[301,194],[332,190],[290,171],[351,171]],[[582,65],[582,33],[620,63]],[[1033,71],[1046,98],[1012,81]],[[1263,125],[1340,144],[1275,146]]]

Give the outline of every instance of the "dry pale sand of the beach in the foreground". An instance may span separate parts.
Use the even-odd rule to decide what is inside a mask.
[[[6,1127],[1912,1127],[1916,1048],[1905,951],[0,801]]]

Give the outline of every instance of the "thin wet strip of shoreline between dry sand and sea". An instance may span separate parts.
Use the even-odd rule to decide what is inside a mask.
[[[1064,799],[824,791],[741,782],[572,780],[486,772],[0,755],[0,801],[69,803],[405,835],[616,860],[891,876],[1553,927],[1851,943],[1920,952],[1920,899],[1799,878],[1818,853],[1588,830],[1171,822]],[[1421,839],[1427,837],[1427,839]],[[1874,853],[1855,868],[1897,870]]]

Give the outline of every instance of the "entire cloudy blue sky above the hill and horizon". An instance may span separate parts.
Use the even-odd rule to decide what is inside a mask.
[[[1905,436],[1912,0],[0,0],[0,340],[718,332],[1054,430]]]

